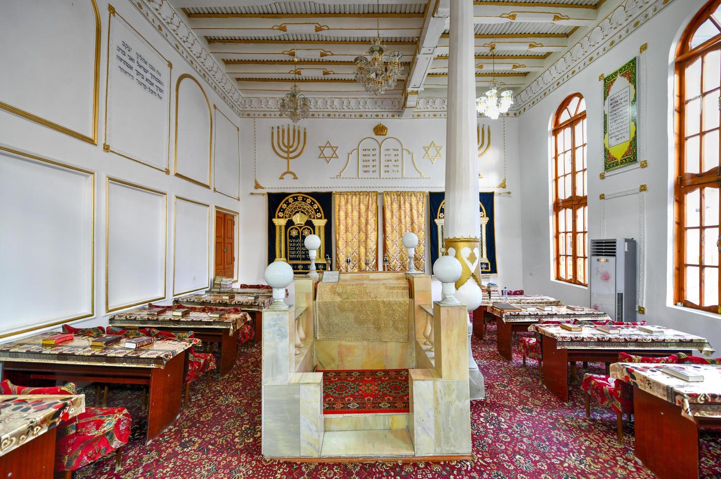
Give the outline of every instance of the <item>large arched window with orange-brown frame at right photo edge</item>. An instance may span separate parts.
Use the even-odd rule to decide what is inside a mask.
[[[676,55],[675,301],[719,310],[721,0],[709,1]]]

